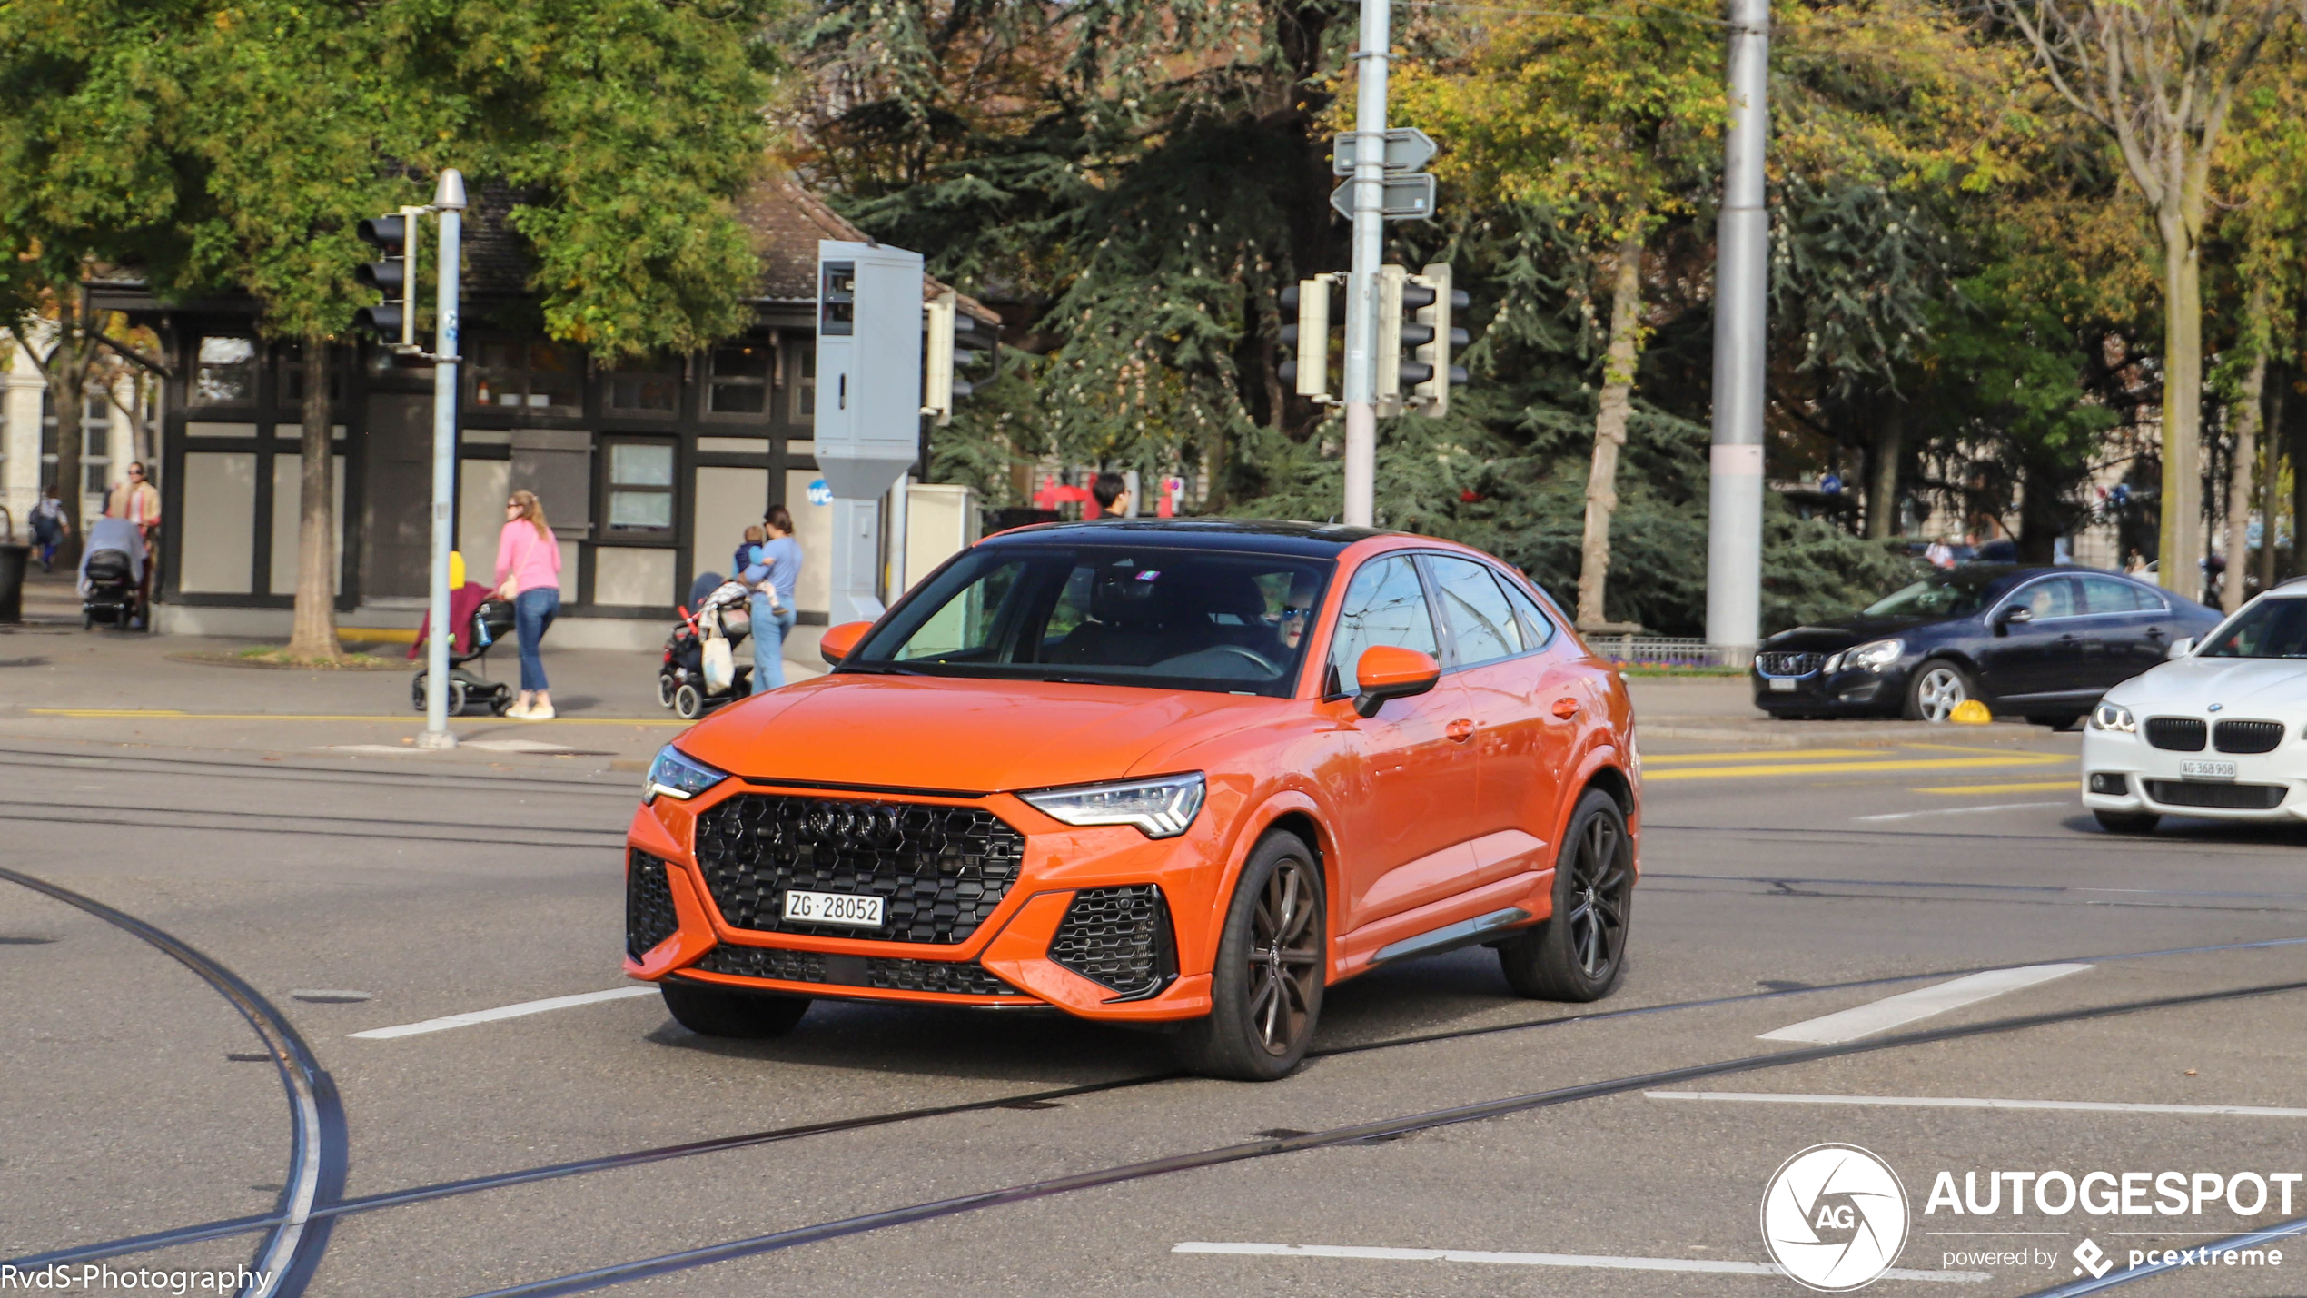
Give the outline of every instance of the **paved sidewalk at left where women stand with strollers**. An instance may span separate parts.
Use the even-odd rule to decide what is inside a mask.
[[[415,754],[424,717],[411,703],[408,671],[284,671],[182,662],[198,650],[240,650],[263,641],[148,636],[81,629],[72,574],[30,572],[23,625],[0,627],[0,735],[95,740],[268,754],[353,759],[491,761],[519,765],[623,768],[646,761],[687,722],[657,705],[657,652],[556,650],[544,641],[554,680],[554,722],[452,717],[452,754]],[[789,643],[805,648],[814,641]],[[399,659],[408,646],[362,646]],[[519,682],[512,643],[466,664],[489,680]],[[784,664],[787,680],[824,676],[821,662]]]

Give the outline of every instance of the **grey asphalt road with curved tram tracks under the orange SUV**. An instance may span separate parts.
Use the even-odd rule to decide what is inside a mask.
[[[164,1233],[102,1263],[272,1247],[305,1293],[448,1298],[600,1268],[524,1291],[1779,1296],[1765,1185],[1834,1141],[1910,1201],[1873,1291],[2037,1293],[2086,1238],[2120,1277],[2307,1217],[2307,1183],[2289,1213],[2282,1183],[2252,1215],[1924,1213],[1940,1171],[1982,1199],[1991,1171],[2307,1171],[2307,830],[2102,835],[2076,735],[1654,740],[1610,1001],[1518,1001],[1483,950],[1393,966],[1331,991],[1299,1074],[1241,1086],[1170,1077],[1149,1033],[840,1003],[777,1042],[651,994],[360,1037],[621,989],[625,761],[0,722],[0,1259],[74,1277]],[[2035,973],[1763,1040],[1991,968]],[[2307,1236],[2268,1247],[2122,1291],[2307,1293]]]

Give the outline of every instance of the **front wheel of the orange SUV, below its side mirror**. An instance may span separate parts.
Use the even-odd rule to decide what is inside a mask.
[[[1179,1063],[1200,1077],[1276,1081],[1306,1058],[1329,978],[1329,906],[1313,851],[1267,835],[1234,883],[1209,978],[1209,1017],[1177,1035]]]

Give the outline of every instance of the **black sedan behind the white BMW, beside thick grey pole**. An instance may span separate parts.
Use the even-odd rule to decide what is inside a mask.
[[[1772,717],[1945,722],[1979,699],[2067,726],[2215,625],[2215,609],[2116,572],[1972,563],[1855,618],[1769,636],[1753,655],[1753,701]]]

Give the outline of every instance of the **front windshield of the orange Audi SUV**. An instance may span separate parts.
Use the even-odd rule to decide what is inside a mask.
[[[1329,560],[1170,546],[978,549],[842,671],[1287,694]]]

